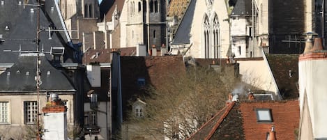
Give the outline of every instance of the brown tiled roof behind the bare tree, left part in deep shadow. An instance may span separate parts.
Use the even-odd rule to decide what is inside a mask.
[[[185,73],[182,56],[121,56],[121,93],[123,111],[128,111],[130,100],[144,98],[145,89],[137,80],[145,80],[146,85],[162,87],[162,79]]]

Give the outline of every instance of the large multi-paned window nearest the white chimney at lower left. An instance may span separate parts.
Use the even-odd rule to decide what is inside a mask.
[[[33,124],[38,117],[38,102],[24,101],[24,122]]]

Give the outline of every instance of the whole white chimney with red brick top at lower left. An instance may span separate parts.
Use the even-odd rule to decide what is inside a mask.
[[[57,94],[51,94],[50,101],[43,107],[44,140],[68,139],[67,107],[61,102]]]

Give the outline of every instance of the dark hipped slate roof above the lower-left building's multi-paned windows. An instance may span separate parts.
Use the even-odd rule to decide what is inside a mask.
[[[0,92],[35,92],[36,59],[36,56],[20,56],[13,67],[0,75]],[[42,81],[40,91],[75,92],[75,88],[70,84],[66,76],[56,70],[45,59],[45,56],[40,56],[40,60]],[[8,72],[10,72],[10,75],[8,75]]]

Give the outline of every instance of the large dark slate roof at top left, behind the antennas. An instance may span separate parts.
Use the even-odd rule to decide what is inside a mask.
[[[46,5],[54,4],[53,1],[47,1]],[[29,0],[28,4],[36,4],[36,0]],[[40,29],[48,29],[48,26],[62,29],[62,24],[58,25],[50,21],[50,16],[54,18],[52,21],[60,21],[61,17],[56,13],[56,8],[52,13],[47,14],[44,12],[45,6],[41,9]],[[31,12],[32,10],[33,12]],[[23,3],[19,6],[18,0],[5,1],[5,4],[0,6],[0,34],[2,34],[0,40],[4,40],[0,44],[0,63],[15,63],[19,54],[18,52],[3,52],[3,50],[18,50],[21,47],[22,51],[36,51],[37,13],[36,6],[23,6]],[[5,29],[6,26],[9,27],[9,30]],[[67,47],[69,44],[67,36],[52,33],[52,39],[49,40],[48,34],[48,31],[40,32],[40,50],[43,48],[45,52],[50,52],[51,47],[66,47],[64,60],[67,62],[75,61],[72,47]],[[50,54],[45,55],[47,59],[51,59]]]

